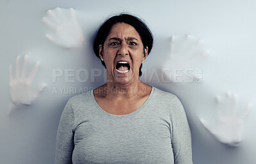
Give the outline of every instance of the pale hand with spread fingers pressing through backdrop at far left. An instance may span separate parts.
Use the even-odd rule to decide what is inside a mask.
[[[22,72],[20,74],[20,56],[16,58],[16,68],[15,68],[15,75],[16,77],[13,78],[12,73],[12,64],[9,66],[10,71],[10,95],[12,98],[12,102],[15,106],[18,105],[30,105],[37,97],[38,94],[44,89],[46,86],[45,83],[41,84],[38,89],[32,88],[32,82],[38,70],[40,63],[37,61],[29,74],[26,77],[26,68],[28,63],[28,55],[25,55],[23,58],[22,64]]]

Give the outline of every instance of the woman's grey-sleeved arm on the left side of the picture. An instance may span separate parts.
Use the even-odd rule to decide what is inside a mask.
[[[55,164],[72,163],[72,152],[74,149],[74,112],[70,101],[67,102],[61,115],[57,132]]]

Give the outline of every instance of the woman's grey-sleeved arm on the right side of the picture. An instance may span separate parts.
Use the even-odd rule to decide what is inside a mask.
[[[172,148],[175,164],[191,164],[191,132],[186,113],[178,98],[172,101]]]

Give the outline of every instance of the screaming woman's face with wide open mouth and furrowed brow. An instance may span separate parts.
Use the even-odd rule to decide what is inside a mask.
[[[147,57],[148,47],[143,50],[140,34],[129,24],[115,24],[104,46],[99,45],[100,58],[106,64],[108,82],[131,84],[138,82],[142,61]]]

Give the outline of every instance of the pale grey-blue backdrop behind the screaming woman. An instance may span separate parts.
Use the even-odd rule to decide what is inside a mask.
[[[65,75],[52,78],[52,70],[83,68],[104,71],[92,52],[92,34],[109,15],[127,11],[137,15],[154,34],[154,47],[143,66],[148,76],[143,78],[152,86],[169,91],[182,101],[192,133],[195,164],[253,164],[256,161],[256,10],[255,1],[0,1],[0,163],[54,163],[56,131],[61,112],[68,98],[104,83],[104,75],[79,82],[65,82]],[[42,17],[56,7],[74,8],[84,34],[84,47],[63,48],[45,38],[51,31]],[[204,40],[209,50],[198,62],[202,82],[172,83],[150,78],[159,71],[170,54],[170,37],[191,34]],[[9,93],[9,64],[15,66],[17,56],[28,54],[28,72],[36,61],[40,68],[33,80],[35,87],[42,82],[47,87],[31,105],[23,105],[9,114],[12,101]],[[72,73],[72,72],[71,72]],[[76,93],[61,93],[60,88],[77,88]],[[57,89],[57,93],[54,93]],[[229,147],[216,140],[200,123],[200,118],[216,115],[215,96],[226,91],[239,96],[239,109],[252,103],[244,120],[242,142]]]

